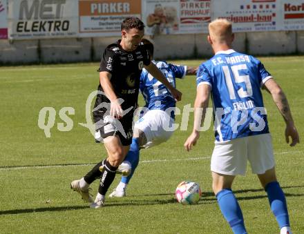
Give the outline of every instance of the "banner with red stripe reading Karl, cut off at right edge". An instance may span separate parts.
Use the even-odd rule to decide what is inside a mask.
[[[281,0],[282,30],[304,30],[304,0]]]

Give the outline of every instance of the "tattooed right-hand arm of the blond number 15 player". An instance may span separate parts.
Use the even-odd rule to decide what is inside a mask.
[[[287,144],[289,143],[289,137],[291,137],[292,143],[290,146],[295,146],[297,143],[300,143],[300,139],[298,136],[298,131],[296,130],[296,126],[294,126],[294,119],[292,119],[292,112],[289,108],[285,93],[283,92],[282,88],[278,86],[274,79],[268,79],[264,85],[267,91],[272,95],[272,99],[276,103],[278,110],[285,120],[285,139]]]

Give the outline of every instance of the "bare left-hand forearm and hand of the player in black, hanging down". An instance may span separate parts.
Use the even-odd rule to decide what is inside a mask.
[[[123,116],[123,111],[111,84],[111,76],[110,72],[99,72],[99,81],[102,89],[106,93],[106,97],[111,101],[110,115],[120,119]]]

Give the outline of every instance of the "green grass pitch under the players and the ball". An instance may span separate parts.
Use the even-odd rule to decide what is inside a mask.
[[[303,137],[304,57],[260,59],[285,90]],[[198,66],[202,61],[173,62]],[[97,67],[98,63],[0,68],[0,233],[231,233],[211,191],[212,128],[201,133],[190,153],[183,148],[193,115],[187,130],[178,128],[169,142],[142,150],[127,197],[106,199],[104,208],[93,210],[70,190],[73,179],[106,156],[103,146],[78,124],[86,122],[85,104],[97,88]],[[178,107],[193,106],[196,77],[179,80],[177,86],[183,92]],[[270,95],[263,93],[292,230],[304,233],[304,147],[285,143],[284,121]],[[38,127],[39,110],[45,106],[56,110],[50,138]],[[69,115],[73,128],[62,132],[57,129],[63,122],[59,110],[66,106],[75,110]],[[178,115],[176,122],[180,121]],[[117,175],[109,192],[119,179]],[[183,180],[200,184],[198,204],[175,202],[175,188]],[[93,195],[97,186],[98,182],[92,186]],[[249,233],[279,233],[266,193],[250,168],[246,177],[236,178],[233,189]]]

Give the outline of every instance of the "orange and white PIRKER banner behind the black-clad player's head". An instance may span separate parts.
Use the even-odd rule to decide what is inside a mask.
[[[79,36],[121,35],[126,17],[141,18],[141,0],[79,0]]]

